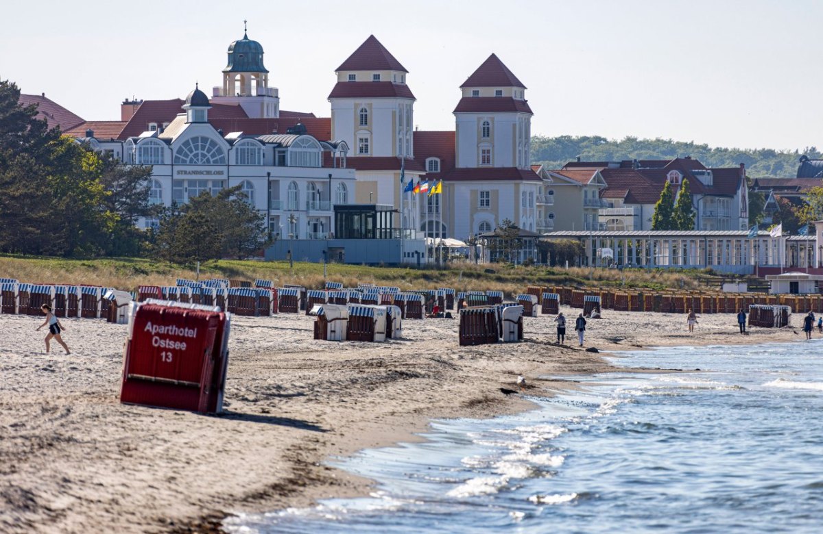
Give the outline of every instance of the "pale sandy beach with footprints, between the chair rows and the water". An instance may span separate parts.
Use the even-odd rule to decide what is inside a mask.
[[[579,312],[563,311],[570,322]],[[604,315],[588,321],[584,348],[803,337],[742,336],[729,314],[701,316],[694,334],[685,315]],[[369,481],[324,460],[413,440],[430,418],[528,409],[528,395],[574,387],[563,375],[611,370],[554,345],[548,316],[525,319],[523,343],[479,347],[458,346],[458,320],[407,320],[388,343],[314,341],[313,321],[235,316],[226,412],[211,417],[119,403],[125,325],[61,320],[64,356],[56,344],[44,353],[42,319],[0,315],[0,532],[203,532],[235,511],[361,495]],[[517,375],[525,395],[502,394]]]

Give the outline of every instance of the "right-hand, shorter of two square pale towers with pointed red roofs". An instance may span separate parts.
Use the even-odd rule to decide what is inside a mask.
[[[495,54],[460,86],[454,108],[458,168],[529,168],[532,109],[526,86]]]

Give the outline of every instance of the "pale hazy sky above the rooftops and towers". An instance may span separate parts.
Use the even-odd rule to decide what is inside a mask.
[[[3,2],[0,79],[87,120],[126,98],[221,85],[226,48],[265,50],[281,108],[328,117],[334,69],[370,34],[407,68],[421,130],[452,130],[459,85],[496,53],[532,134],[823,145],[823,2]]]

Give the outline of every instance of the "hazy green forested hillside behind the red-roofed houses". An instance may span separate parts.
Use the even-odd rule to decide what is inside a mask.
[[[749,177],[795,177],[802,154],[811,159],[823,158],[823,153],[811,146],[803,150],[724,149],[695,142],[671,139],[621,140],[601,136],[532,137],[532,164],[546,163],[560,168],[575,157],[588,161],[620,161],[621,159],[672,159],[690,155],[707,167],[737,167],[746,163]]]

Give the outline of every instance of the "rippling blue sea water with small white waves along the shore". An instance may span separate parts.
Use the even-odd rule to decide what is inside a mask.
[[[625,372],[335,465],[372,495],[230,532],[823,532],[823,341],[624,352]],[[658,374],[631,367],[692,370]],[[693,371],[700,369],[700,371]]]

